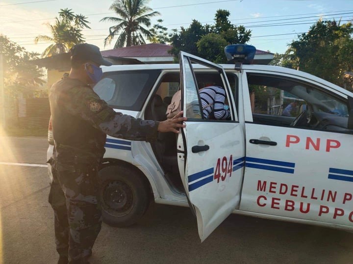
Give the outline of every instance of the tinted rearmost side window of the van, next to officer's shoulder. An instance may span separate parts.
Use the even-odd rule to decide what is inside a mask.
[[[113,108],[141,111],[160,70],[105,72],[94,91]]]

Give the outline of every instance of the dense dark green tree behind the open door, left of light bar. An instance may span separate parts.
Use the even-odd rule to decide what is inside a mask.
[[[202,25],[193,20],[188,28],[181,27],[181,31],[171,37],[171,54],[177,59],[182,50],[216,63],[225,63],[224,47],[227,44],[244,44],[251,37],[251,30],[232,24],[228,20],[229,15],[229,11],[219,9],[215,14],[214,25]],[[222,46],[217,47],[217,44]]]

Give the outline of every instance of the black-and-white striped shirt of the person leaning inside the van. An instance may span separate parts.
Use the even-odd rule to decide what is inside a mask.
[[[218,86],[205,87],[200,92],[200,98],[203,115],[206,119],[209,119],[212,110],[216,119],[227,119],[230,116],[229,110],[224,109],[226,100],[226,91],[224,88]]]

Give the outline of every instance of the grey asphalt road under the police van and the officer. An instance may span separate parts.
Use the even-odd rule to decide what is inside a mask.
[[[46,138],[0,137],[0,264],[56,263]],[[103,224],[91,257],[110,263],[353,263],[353,234],[231,215],[201,243],[189,208],[151,204],[129,228]]]

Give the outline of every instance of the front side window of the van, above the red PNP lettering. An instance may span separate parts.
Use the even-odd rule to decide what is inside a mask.
[[[342,131],[348,102],[320,87],[276,75],[247,74],[254,123]]]

